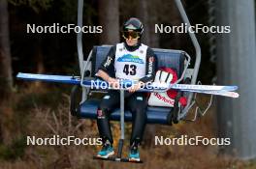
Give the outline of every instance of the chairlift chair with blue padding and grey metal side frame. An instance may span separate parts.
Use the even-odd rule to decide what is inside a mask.
[[[175,0],[178,11],[183,19],[183,21],[190,26],[190,22],[187,18],[187,15],[184,11],[182,3],[180,0]],[[82,26],[82,6],[83,0],[79,0],[79,11],[78,11],[78,26]],[[196,84],[198,71],[201,62],[201,47],[199,42],[196,39],[194,33],[189,32],[191,41],[194,44],[196,50],[196,61],[194,68],[188,68],[190,65],[191,57],[182,50],[173,50],[173,49],[161,49],[153,48],[154,54],[157,57],[157,67],[166,67],[176,70],[178,75],[178,80],[176,83],[186,82],[189,84]],[[96,70],[98,70],[100,64],[103,62],[107,56],[112,45],[97,45],[94,46],[90,51],[87,59],[84,60],[82,53],[82,33],[78,34],[77,37],[78,43],[78,53],[79,53],[79,62],[80,62],[80,76],[81,81],[86,77],[94,77]],[[82,90],[82,95],[80,100],[76,99],[79,90]],[[82,83],[80,86],[75,86],[71,94],[71,107],[70,110],[73,115],[82,118],[82,119],[96,119],[97,118],[97,107],[99,104],[99,99],[90,99],[89,94],[93,93],[91,89],[83,87]],[[190,108],[195,104],[194,94],[185,93],[188,101],[187,105],[180,109],[181,107],[177,104],[177,107],[147,107],[147,123],[148,124],[161,124],[161,125],[170,125],[172,124],[172,117],[176,117],[175,121],[185,120]],[[173,111],[174,109],[178,111]],[[112,121],[120,120],[119,109],[116,109],[110,119]],[[175,114],[174,114],[175,113]],[[132,121],[132,114],[129,111],[124,113],[125,122]]]

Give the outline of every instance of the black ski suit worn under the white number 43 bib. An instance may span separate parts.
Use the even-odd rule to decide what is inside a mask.
[[[128,51],[138,50],[142,43],[138,43],[137,46],[128,46],[124,42],[124,46]],[[101,64],[99,70],[107,72],[111,77],[115,78],[115,53],[116,45],[112,46],[106,59]],[[152,81],[155,75],[156,58],[151,48],[146,49],[146,62],[144,64],[145,74],[144,77],[140,79],[142,82]],[[118,70],[117,70],[118,71]],[[135,93],[124,93],[125,109],[130,110],[132,113],[133,126],[132,126],[132,136],[130,139],[130,144],[133,143],[140,144],[143,140],[144,127],[146,124],[146,106],[147,99],[146,93],[135,92]],[[102,99],[97,110],[97,125],[100,133],[100,137],[105,143],[107,139],[112,143],[112,130],[110,126],[109,117],[115,108],[120,106],[120,93],[119,91],[109,91],[108,94]]]

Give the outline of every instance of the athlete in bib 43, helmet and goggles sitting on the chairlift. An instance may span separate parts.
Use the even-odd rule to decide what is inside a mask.
[[[135,17],[128,19],[122,30],[124,42],[113,45],[106,59],[96,73],[111,85],[116,86],[118,79],[137,80],[129,92],[124,93],[125,108],[133,116],[132,135],[130,139],[130,161],[140,161],[138,146],[143,140],[146,124],[146,94],[136,92],[144,83],[152,81],[155,75],[156,59],[151,48],[141,42],[144,32],[142,22]],[[119,107],[119,91],[111,90],[102,99],[97,110],[97,125],[100,137],[103,139],[102,150],[98,157],[108,158],[113,155],[112,130],[109,116]]]

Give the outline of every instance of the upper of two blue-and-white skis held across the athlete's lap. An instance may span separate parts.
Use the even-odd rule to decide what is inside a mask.
[[[66,84],[73,84],[73,85],[80,85],[80,76],[68,76],[68,75],[49,75],[49,74],[33,74],[33,73],[22,73],[19,72],[16,75],[19,79],[25,80],[40,80],[40,81],[47,81],[47,82],[57,82],[57,83],[66,83]],[[126,90],[125,88],[129,88],[132,84],[135,84],[131,80],[121,80],[120,85],[122,89]],[[102,81],[95,78],[86,78],[82,84],[83,87],[93,88],[93,89],[111,89],[108,82]],[[198,92],[212,93],[212,91],[236,91],[238,86],[214,86],[214,85],[191,85],[191,84],[167,84],[167,83],[151,83],[145,85],[142,88],[141,92],[166,92],[170,89],[180,90],[180,91],[191,91],[191,92]],[[114,89],[113,89],[114,90]],[[118,90],[118,89],[115,89]],[[224,94],[223,94],[224,95]],[[229,94],[228,94],[229,95]]]

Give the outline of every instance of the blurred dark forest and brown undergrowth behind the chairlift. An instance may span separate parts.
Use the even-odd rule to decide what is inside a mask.
[[[214,24],[212,0],[182,2],[192,25]],[[80,74],[75,33],[26,33],[28,23],[77,24],[77,6],[76,0],[0,0],[0,168],[256,168],[255,161],[222,155],[219,147],[153,145],[154,135],[214,137],[217,134],[215,102],[208,116],[195,123],[148,127],[142,165],[94,161],[92,155],[99,148],[91,146],[26,146],[27,135],[97,136],[95,122],[71,117],[70,86],[22,82],[15,78],[18,71]],[[83,34],[85,57],[93,45],[121,41],[119,29],[130,16],[144,22],[144,43],[150,47],[182,49],[192,56],[195,54],[188,35],[154,33],[155,23],[180,25],[182,22],[174,1],[86,0],[83,11],[83,25],[104,28],[103,34]],[[211,84],[216,81],[214,35],[200,33],[197,37],[203,52],[198,79]],[[207,104],[207,101],[208,97],[200,96],[200,102]],[[118,124],[113,123],[113,129],[117,139]]]

